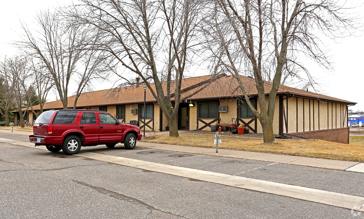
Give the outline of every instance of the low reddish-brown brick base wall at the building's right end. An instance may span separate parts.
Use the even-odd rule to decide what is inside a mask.
[[[349,128],[332,128],[308,132],[288,133],[290,135],[302,136],[305,138],[321,139],[330,142],[349,144]]]

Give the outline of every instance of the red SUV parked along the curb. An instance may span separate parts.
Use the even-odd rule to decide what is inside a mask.
[[[81,146],[106,144],[115,147],[124,143],[133,149],[142,138],[140,128],[121,124],[108,112],[99,110],[50,110],[35,120],[29,140],[35,146],[45,145],[51,152],[62,149],[65,154],[77,154]]]

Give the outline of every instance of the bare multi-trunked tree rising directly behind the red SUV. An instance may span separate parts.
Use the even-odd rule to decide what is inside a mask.
[[[43,63],[48,72],[46,76],[56,87],[63,108],[68,106],[69,86],[72,80],[78,84],[74,108],[79,95],[90,81],[104,73],[101,64],[103,52],[89,47],[88,30],[81,25],[70,24],[59,13],[41,12],[37,17],[40,30],[30,31],[23,25],[24,37],[18,44],[25,52]],[[91,39],[95,40],[95,39]]]

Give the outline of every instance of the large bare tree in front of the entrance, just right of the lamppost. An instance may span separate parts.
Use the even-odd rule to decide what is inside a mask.
[[[170,136],[178,136],[176,115],[179,103],[205,88],[215,76],[183,93],[182,79],[193,69],[201,53],[197,27],[202,0],[81,0],[73,17],[102,31],[98,43],[124,68],[117,75],[125,83],[138,84],[126,77],[132,73],[146,84],[159,103],[170,126]],[[153,85],[151,83],[154,83]],[[174,105],[173,105],[174,101]]]

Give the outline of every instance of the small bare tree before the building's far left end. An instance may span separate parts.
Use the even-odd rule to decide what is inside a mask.
[[[16,110],[20,116],[20,126],[24,127],[24,117],[27,110],[33,104],[29,96],[33,93],[30,85],[31,71],[29,71],[28,59],[24,56],[6,58],[1,63],[0,70],[3,84],[9,88],[8,95],[11,99],[11,108]]]

